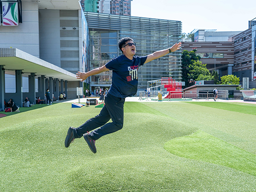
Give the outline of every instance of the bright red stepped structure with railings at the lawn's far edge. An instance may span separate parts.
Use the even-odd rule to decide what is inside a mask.
[[[181,82],[176,83],[175,80],[172,80],[172,77],[162,77],[161,84],[164,85],[164,88],[167,88],[167,91],[169,92],[168,96],[165,98],[182,98]]]

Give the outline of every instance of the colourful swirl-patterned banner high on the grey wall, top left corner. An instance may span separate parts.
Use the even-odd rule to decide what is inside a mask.
[[[2,14],[4,26],[18,26],[18,3],[2,1]]]

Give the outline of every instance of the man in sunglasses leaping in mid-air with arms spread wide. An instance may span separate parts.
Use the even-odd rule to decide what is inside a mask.
[[[171,48],[154,52],[148,56],[135,56],[136,44],[130,37],[120,39],[118,46],[123,55],[89,72],[76,73],[76,78],[84,81],[89,76],[112,70],[112,84],[105,96],[105,105],[100,114],[87,120],[78,128],[70,127],[68,129],[65,139],[66,148],[69,147],[74,139],[83,136],[91,151],[96,153],[96,140],[123,128],[124,102],[126,97],[134,96],[137,92],[138,68],[152,60],[180,49],[181,42],[174,44]],[[112,122],[108,123],[110,119],[112,119]]]

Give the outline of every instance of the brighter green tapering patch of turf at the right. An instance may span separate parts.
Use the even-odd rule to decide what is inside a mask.
[[[164,148],[180,157],[219,164],[256,176],[256,155],[198,131],[168,141]]]

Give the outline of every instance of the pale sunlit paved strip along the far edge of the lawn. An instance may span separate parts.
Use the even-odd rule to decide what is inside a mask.
[[[80,103],[85,103],[87,98],[80,98]],[[99,97],[89,97],[88,99],[97,99],[98,103],[101,103],[101,101],[99,102]],[[139,97],[127,97],[125,99],[125,102],[180,102],[180,101],[186,101],[186,100],[163,100],[163,101],[157,101],[157,100],[151,100],[151,99],[147,99],[147,100],[139,100]],[[200,99],[200,100],[187,100],[187,101],[192,101],[192,102],[228,102],[228,103],[233,103],[233,102],[238,102],[238,103],[249,103],[249,104],[256,104],[256,102],[250,102],[250,101],[244,101],[244,100],[216,100],[214,101],[213,99],[209,99],[209,100],[205,100],[205,99]],[[78,103],[78,99],[73,99],[73,100],[65,100],[65,101],[61,101],[64,103]]]

